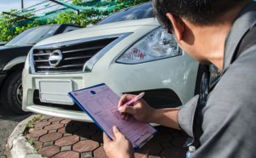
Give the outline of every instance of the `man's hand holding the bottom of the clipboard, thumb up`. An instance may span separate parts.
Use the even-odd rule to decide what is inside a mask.
[[[108,157],[134,157],[131,142],[119,132],[116,126],[113,127],[113,135],[115,140],[111,140],[106,133],[103,133],[103,147]]]

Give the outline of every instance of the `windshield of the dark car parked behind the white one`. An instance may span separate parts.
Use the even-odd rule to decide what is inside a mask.
[[[6,46],[34,45],[44,38],[52,36],[58,27],[59,25],[45,25],[23,31],[20,35],[8,42]]]

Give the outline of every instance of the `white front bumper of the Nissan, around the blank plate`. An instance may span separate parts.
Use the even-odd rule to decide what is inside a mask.
[[[162,59],[140,65],[123,65],[113,63],[112,61],[108,62],[108,59],[102,58],[105,62],[98,62],[101,64],[96,64],[92,72],[79,74],[40,75],[29,74],[27,70],[24,70],[22,74],[22,108],[26,111],[49,116],[63,117],[77,121],[91,121],[90,117],[87,116],[84,111],[80,110],[79,106],[76,104],[46,104],[38,101],[40,100],[38,99],[40,81],[67,80],[73,82],[73,90],[91,87],[104,82],[108,87],[112,88],[119,97],[121,97],[123,93],[139,93],[141,91],[155,92],[159,89],[167,93],[172,91],[174,95],[177,96],[177,99],[180,100],[180,104],[176,104],[179,106],[192,98],[195,92],[198,63],[190,58],[188,54],[183,54],[179,57]],[[180,65],[180,63],[183,63],[183,60],[186,60],[186,64]],[[112,64],[110,65],[110,63]],[[168,66],[166,66],[166,64],[168,64]],[[170,69],[177,67],[177,65],[179,65],[177,69]],[[147,69],[149,66],[150,69]],[[158,68],[161,68],[161,70]],[[171,94],[169,93],[168,95]],[[171,98],[174,95],[172,95]],[[163,96],[164,94],[162,96],[159,95],[158,100],[153,101],[156,104],[160,104]],[[172,101],[173,99],[170,100]]]

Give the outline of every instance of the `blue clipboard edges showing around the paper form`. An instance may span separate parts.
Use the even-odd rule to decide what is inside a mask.
[[[113,140],[113,138],[110,136],[110,134],[109,134],[106,130],[104,130],[103,127],[102,127],[102,125],[99,124],[99,122],[96,121],[96,119],[90,114],[90,111],[89,111],[89,110],[86,110],[86,109],[84,108],[84,106],[79,102],[79,100],[77,99],[77,97],[76,97],[75,95],[73,95],[74,92],[86,91],[86,90],[89,90],[89,89],[93,89],[93,88],[95,88],[95,87],[102,87],[102,86],[107,86],[107,85],[106,85],[105,83],[101,83],[101,84],[98,84],[98,85],[95,85],[95,86],[92,86],[92,87],[85,87],[85,88],[83,88],[83,89],[79,89],[79,90],[70,92],[70,93],[68,93],[68,95],[69,95],[69,97],[70,97],[71,99],[74,100],[74,102],[75,102],[76,104],[79,105],[79,107],[80,107],[82,110],[84,110],[84,112],[85,112],[88,116],[90,116],[91,120],[94,121],[94,122],[96,123],[96,125],[97,125],[98,127],[100,127],[100,128],[102,129],[102,131],[103,131],[104,133],[106,133],[106,134],[108,135],[108,137]],[[110,88],[109,88],[109,89],[110,89]],[[90,91],[90,92],[93,93],[94,91]],[[152,127],[150,124],[149,124],[149,126]],[[154,128],[154,127],[152,127],[152,128]],[[134,150],[135,150],[135,151],[139,150],[144,144],[146,144],[151,138],[153,138],[156,133],[158,133],[158,130],[157,130],[156,128],[154,128],[154,133],[152,133],[148,138],[145,138],[144,140],[140,140],[140,142],[134,147]]]

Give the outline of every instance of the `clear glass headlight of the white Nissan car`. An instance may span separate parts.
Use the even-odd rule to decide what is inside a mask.
[[[117,62],[138,64],[181,54],[182,50],[178,47],[175,38],[167,33],[166,29],[159,27],[136,42],[117,59]]]

